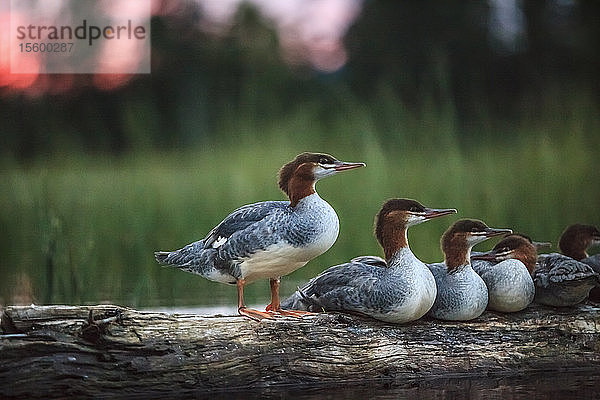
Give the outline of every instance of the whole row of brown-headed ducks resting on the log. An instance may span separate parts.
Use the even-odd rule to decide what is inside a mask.
[[[385,259],[362,256],[336,265],[311,279],[280,302],[280,277],[304,266],[336,241],[339,220],[315,191],[315,183],[338,172],[365,166],[331,155],[302,153],[279,171],[279,187],[289,201],[265,201],[238,208],[208,235],[172,252],[156,252],[161,264],[205,278],[237,285],[238,312],[251,319],[301,317],[320,311],[358,313],[405,323],[422,316],[465,321],[486,308],[515,312],[532,301],[570,306],[600,298],[600,231],[571,225],[561,236],[563,254],[537,255],[548,243],[533,242],[510,229],[490,228],[474,219],[455,222],[443,234],[444,262],[426,264],[410,250],[407,230],[455,209],[425,207],[415,200],[386,201],[375,221],[375,235]],[[473,246],[506,236],[491,251]],[[265,311],[247,308],[244,286],[269,278],[271,303]]]

